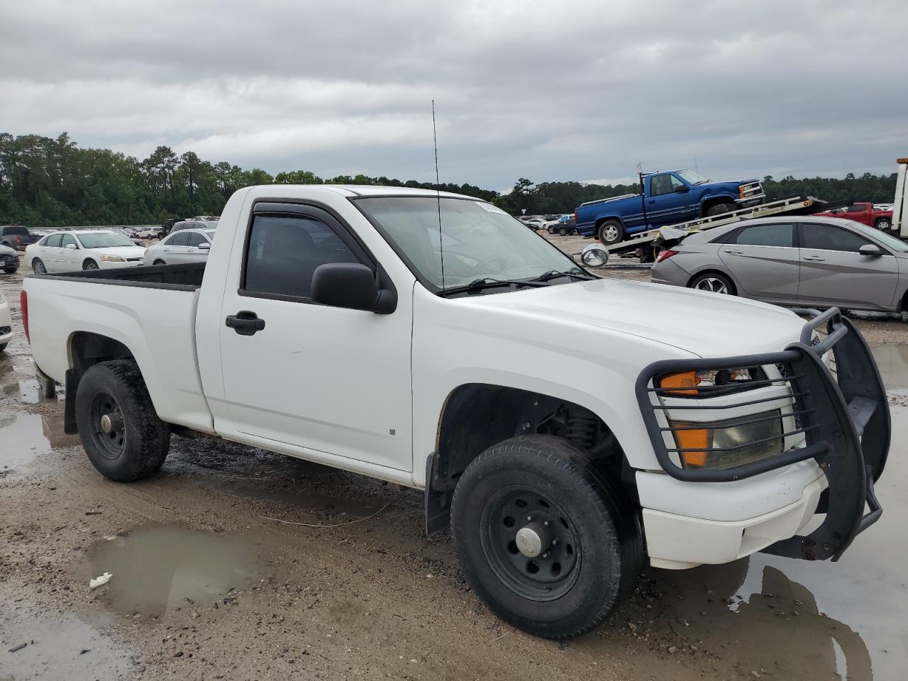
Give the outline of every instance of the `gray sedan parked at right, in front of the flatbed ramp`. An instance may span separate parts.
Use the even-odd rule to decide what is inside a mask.
[[[908,311],[908,244],[850,220],[747,220],[661,252],[653,281],[779,305]]]

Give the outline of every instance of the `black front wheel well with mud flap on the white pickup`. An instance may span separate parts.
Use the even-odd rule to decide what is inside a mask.
[[[611,429],[587,408],[529,390],[487,383],[462,385],[445,402],[436,450],[427,462],[427,533],[448,527],[450,496],[470,461],[502,440],[531,434],[574,442],[590,457],[603,461],[616,480],[629,471]]]

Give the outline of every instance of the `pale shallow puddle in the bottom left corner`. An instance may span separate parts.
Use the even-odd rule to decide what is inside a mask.
[[[126,652],[77,617],[32,619],[3,633],[2,679],[113,681],[124,678],[128,670]]]

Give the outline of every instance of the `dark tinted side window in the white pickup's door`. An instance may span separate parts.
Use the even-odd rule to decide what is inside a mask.
[[[330,262],[360,262],[336,232],[311,217],[256,215],[242,290],[309,298],[312,274]]]

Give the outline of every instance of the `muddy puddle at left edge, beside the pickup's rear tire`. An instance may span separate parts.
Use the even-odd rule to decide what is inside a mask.
[[[0,477],[51,449],[79,444],[63,425],[63,414],[0,413]]]

